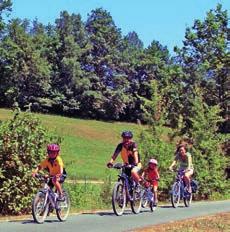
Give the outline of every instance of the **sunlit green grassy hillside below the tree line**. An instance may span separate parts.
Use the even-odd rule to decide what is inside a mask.
[[[12,115],[12,111],[0,109],[0,120],[7,120]],[[140,131],[140,127],[132,123],[102,122],[45,114],[36,116],[46,128],[63,137],[61,156],[70,178],[103,179],[109,173],[106,163],[120,142],[121,131],[132,130],[134,135]],[[115,171],[110,172],[116,174]]]

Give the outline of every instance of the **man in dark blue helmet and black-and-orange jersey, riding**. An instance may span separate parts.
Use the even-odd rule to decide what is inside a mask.
[[[137,150],[137,144],[132,140],[133,133],[131,131],[123,131],[121,133],[121,137],[122,142],[117,145],[110,161],[107,163],[107,167],[111,168],[113,166],[113,162],[119,153],[121,153],[123,163],[132,166],[131,176],[136,183],[139,183],[141,181],[139,172],[142,165],[140,162],[140,155]]]

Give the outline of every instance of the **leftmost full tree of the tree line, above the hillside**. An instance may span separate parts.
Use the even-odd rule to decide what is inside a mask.
[[[26,33],[26,21],[12,20],[1,43],[0,85],[4,106],[18,102],[25,108],[38,102],[49,89],[49,64]]]

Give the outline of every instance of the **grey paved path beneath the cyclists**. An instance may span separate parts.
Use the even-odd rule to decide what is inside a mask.
[[[158,207],[153,213],[144,209],[138,215],[134,215],[127,208],[124,215],[120,217],[115,216],[112,211],[72,215],[66,222],[59,222],[56,217],[49,217],[42,225],[35,224],[32,218],[0,222],[0,232],[120,232],[220,212],[230,212],[230,200],[197,202],[190,208],[181,205],[174,209],[170,205],[165,205]]]

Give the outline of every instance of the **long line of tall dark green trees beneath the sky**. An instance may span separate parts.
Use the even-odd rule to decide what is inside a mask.
[[[85,22],[63,11],[53,25],[43,25],[37,19],[7,21],[12,3],[1,5],[0,107],[146,122],[144,102],[151,100],[155,81],[161,96],[155,114],[165,112],[167,125],[177,128],[183,120],[190,126],[199,88],[208,106],[220,107],[220,129],[229,130],[229,28],[221,5],[186,29],[173,56],[156,40],[144,48],[134,31],[122,36],[102,8]]]

